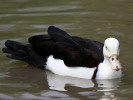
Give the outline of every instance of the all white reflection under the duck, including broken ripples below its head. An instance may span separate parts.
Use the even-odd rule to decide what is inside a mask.
[[[66,77],[53,74],[49,71],[46,71],[47,81],[50,89],[67,91],[65,87],[70,85],[71,87],[80,87],[80,88],[95,88],[97,87],[97,92],[101,91],[103,93],[101,100],[111,98],[116,99],[117,97],[113,93],[114,90],[117,90],[119,87],[120,79],[117,80],[86,80],[73,77]],[[92,95],[96,92],[79,92],[80,95]]]

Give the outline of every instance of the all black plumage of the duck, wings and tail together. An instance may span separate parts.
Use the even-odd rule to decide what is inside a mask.
[[[7,40],[3,52],[12,59],[45,68],[47,57],[62,59],[69,67],[97,67],[103,61],[103,44],[90,39],[70,36],[63,30],[50,26],[47,35],[36,35],[28,39],[29,44]]]

